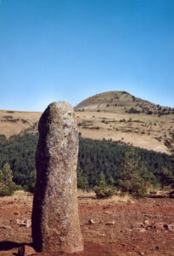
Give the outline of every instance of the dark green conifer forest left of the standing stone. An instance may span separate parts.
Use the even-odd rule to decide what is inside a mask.
[[[8,162],[13,171],[13,181],[27,189],[35,182],[35,152],[38,135],[10,137],[0,144],[0,168]],[[29,188],[29,189],[30,189]]]

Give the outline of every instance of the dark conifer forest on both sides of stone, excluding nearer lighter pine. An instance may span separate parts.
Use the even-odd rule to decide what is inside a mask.
[[[34,186],[37,139],[37,134],[18,135],[8,140],[1,137],[0,169],[8,162],[13,171],[14,182],[25,189],[32,189]],[[111,140],[97,141],[80,138],[77,166],[78,186],[83,189],[93,188],[98,184],[102,172],[106,183],[118,186],[122,172],[121,163],[127,150],[130,148],[126,144],[121,145]],[[139,162],[144,166],[144,171],[141,173],[144,181],[161,187],[167,184],[166,172],[172,176],[171,156],[141,148],[134,148],[134,150]]]

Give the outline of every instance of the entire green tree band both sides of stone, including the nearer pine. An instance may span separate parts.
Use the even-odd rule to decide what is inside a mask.
[[[8,163],[13,172],[13,182],[30,191],[33,191],[36,178],[37,140],[37,134],[24,134],[8,140],[2,136],[0,143],[0,169]],[[173,162],[168,154],[112,141],[80,138],[77,181],[81,189],[92,189],[105,183],[106,187],[114,186],[143,195],[147,183],[160,187],[170,184],[166,181],[167,177],[170,181],[173,179],[173,172]]]

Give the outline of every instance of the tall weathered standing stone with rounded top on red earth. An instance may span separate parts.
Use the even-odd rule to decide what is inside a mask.
[[[78,131],[70,103],[53,102],[39,121],[32,239],[39,252],[83,251],[76,195]]]

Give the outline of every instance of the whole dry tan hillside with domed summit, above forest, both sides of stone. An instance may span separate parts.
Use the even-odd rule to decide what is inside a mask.
[[[174,108],[142,100],[126,91],[109,91],[75,107],[81,137],[111,139],[169,153],[174,134]],[[35,133],[41,112],[0,110],[0,135]]]

